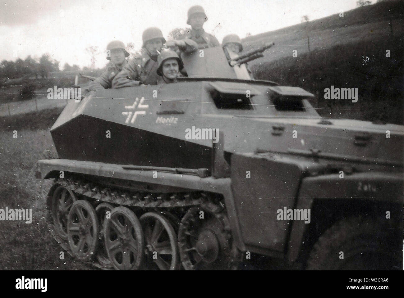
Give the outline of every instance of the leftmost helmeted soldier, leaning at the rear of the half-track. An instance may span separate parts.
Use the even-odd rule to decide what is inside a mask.
[[[126,65],[126,57],[128,56],[129,53],[123,42],[119,40],[110,42],[107,45],[107,60],[111,61],[112,65],[109,65],[101,76],[88,84],[88,91],[111,88],[112,80]]]

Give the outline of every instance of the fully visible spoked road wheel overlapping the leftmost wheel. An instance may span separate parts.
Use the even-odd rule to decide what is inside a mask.
[[[94,207],[86,200],[75,201],[67,217],[67,240],[76,258],[88,261],[95,256],[98,231]]]

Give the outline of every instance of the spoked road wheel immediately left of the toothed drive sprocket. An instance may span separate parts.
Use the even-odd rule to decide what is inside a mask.
[[[170,221],[155,212],[140,217],[145,234],[145,267],[147,269],[178,269],[177,234]]]

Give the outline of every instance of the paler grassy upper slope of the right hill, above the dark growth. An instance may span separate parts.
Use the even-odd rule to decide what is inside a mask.
[[[298,55],[308,52],[307,36],[310,50],[330,48],[337,44],[347,44],[359,41],[373,42],[391,37],[390,17],[392,18],[393,34],[402,42],[404,35],[404,0],[391,0],[370,6],[364,6],[339,14],[290,27],[249,36],[243,40],[245,49],[257,48],[265,42],[275,42],[275,46],[265,52],[265,57],[257,59],[252,64],[265,61],[276,61],[284,57],[292,57],[293,50]]]

